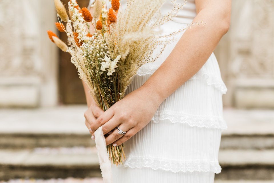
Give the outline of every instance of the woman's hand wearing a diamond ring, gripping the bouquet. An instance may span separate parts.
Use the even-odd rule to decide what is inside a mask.
[[[161,102],[155,93],[150,92],[143,85],[101,114],[97,120],[92,122],[90,130],[93,134],[102,126],[103,133],[110,134],[106,137],[106,145],[113,143],[113,146],[118,146],[150,122]],[[126,134],[118,134],[118,130],[115,130],[117,126]]]

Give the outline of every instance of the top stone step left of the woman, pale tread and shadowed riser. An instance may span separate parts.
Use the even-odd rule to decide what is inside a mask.
[[[84,125],[86,106],[0,109],[0,149],[94,146]]]

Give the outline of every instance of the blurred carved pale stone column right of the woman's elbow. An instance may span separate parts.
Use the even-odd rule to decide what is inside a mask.
[[[273,0],[234,0],[229,32],[214,53],[228,87],[225,106],[274,108]]]

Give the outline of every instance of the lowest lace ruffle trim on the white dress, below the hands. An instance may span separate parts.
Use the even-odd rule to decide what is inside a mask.
[[[152,168],[177,172],[214,172],[219,174],[221,166],[218,161],[207,160],[166,160],[153,157],[128,157],[124,164],[129,168]]]

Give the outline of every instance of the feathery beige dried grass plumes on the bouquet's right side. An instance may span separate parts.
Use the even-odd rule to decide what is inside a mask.
[[[106,39],[109,49],[113,50],[110,54],[111,58],[114,59],[117,55],[122,56],[117,72],[123,92],[142,65],[155,61],[170,43],[172,36],[188,28],[160,36],[156,28],[175,17],[185,4],[176,4],[174,0],[172,1],[173,9],[164,16],[157,17],[164,3],[165,0],[128,0],[127,9],[119,11],[116,24],[110,26],[112,35],[107,36]],[[160,51],[153,56],[157,47],[160,47]]]

